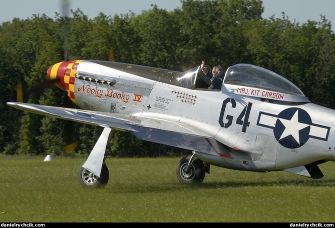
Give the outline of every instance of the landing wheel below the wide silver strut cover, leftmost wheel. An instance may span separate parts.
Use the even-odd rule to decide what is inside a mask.
[[[109,171],[107,165],[102,164],[100,178],[94,175],[92,172],[80,166],[78,172],[79,182],[83,187],[94,188],[94,187],[104,187],[109,180]]]

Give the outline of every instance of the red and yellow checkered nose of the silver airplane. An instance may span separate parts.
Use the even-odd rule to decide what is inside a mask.
[[[70,99],[75,102],[75,74],[78,64],[82,60],[70,60],[58,62],[49,67],[47,74],[51,80],[58,79],[57,86],[68,92]]]

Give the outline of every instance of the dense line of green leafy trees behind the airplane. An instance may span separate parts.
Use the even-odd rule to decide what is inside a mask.
[[[172,11],[151,5],[140,14],[100,13],[93,19],[77,8],[70,17],[34,14],[0,24],[0,153],[79,156],[93,148],[101,127],[26,113],[6,104],[17,100],[19,82],[34,87],[46,80],[47,69],[64,60],[65,50],[69,59],[113,60],[179,71],[204,59],[223,68],[255,64],[291,80],[312,102],[334,109],[335,38],[325,16],[300,24],[284,12],[280,18],[262,18],[261,0],[181,3]],[[28,102],[71,105],[57,87],[31,93]],[[65,150],[72,142],[78,146]],[[116,131],[112,143],[115,156],[186,152],[138,140],[123,131]]]

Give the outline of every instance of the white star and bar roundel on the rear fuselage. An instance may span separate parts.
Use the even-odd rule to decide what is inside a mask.
[[[313,123],[308,112],[297,107],[286,108],[278,115],[260,111],[257,125],[272,128],[277,141],[286,148],[298,148],[309,138],[326,141],[330,130]]]

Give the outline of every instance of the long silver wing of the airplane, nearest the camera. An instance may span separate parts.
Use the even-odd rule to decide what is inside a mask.
[[[142,140],[212,153],[223,157],[231,156],[227,149],[213,136],[172,120],[21,102],[7,102],[7,104],[36,114],[131,131]]]

